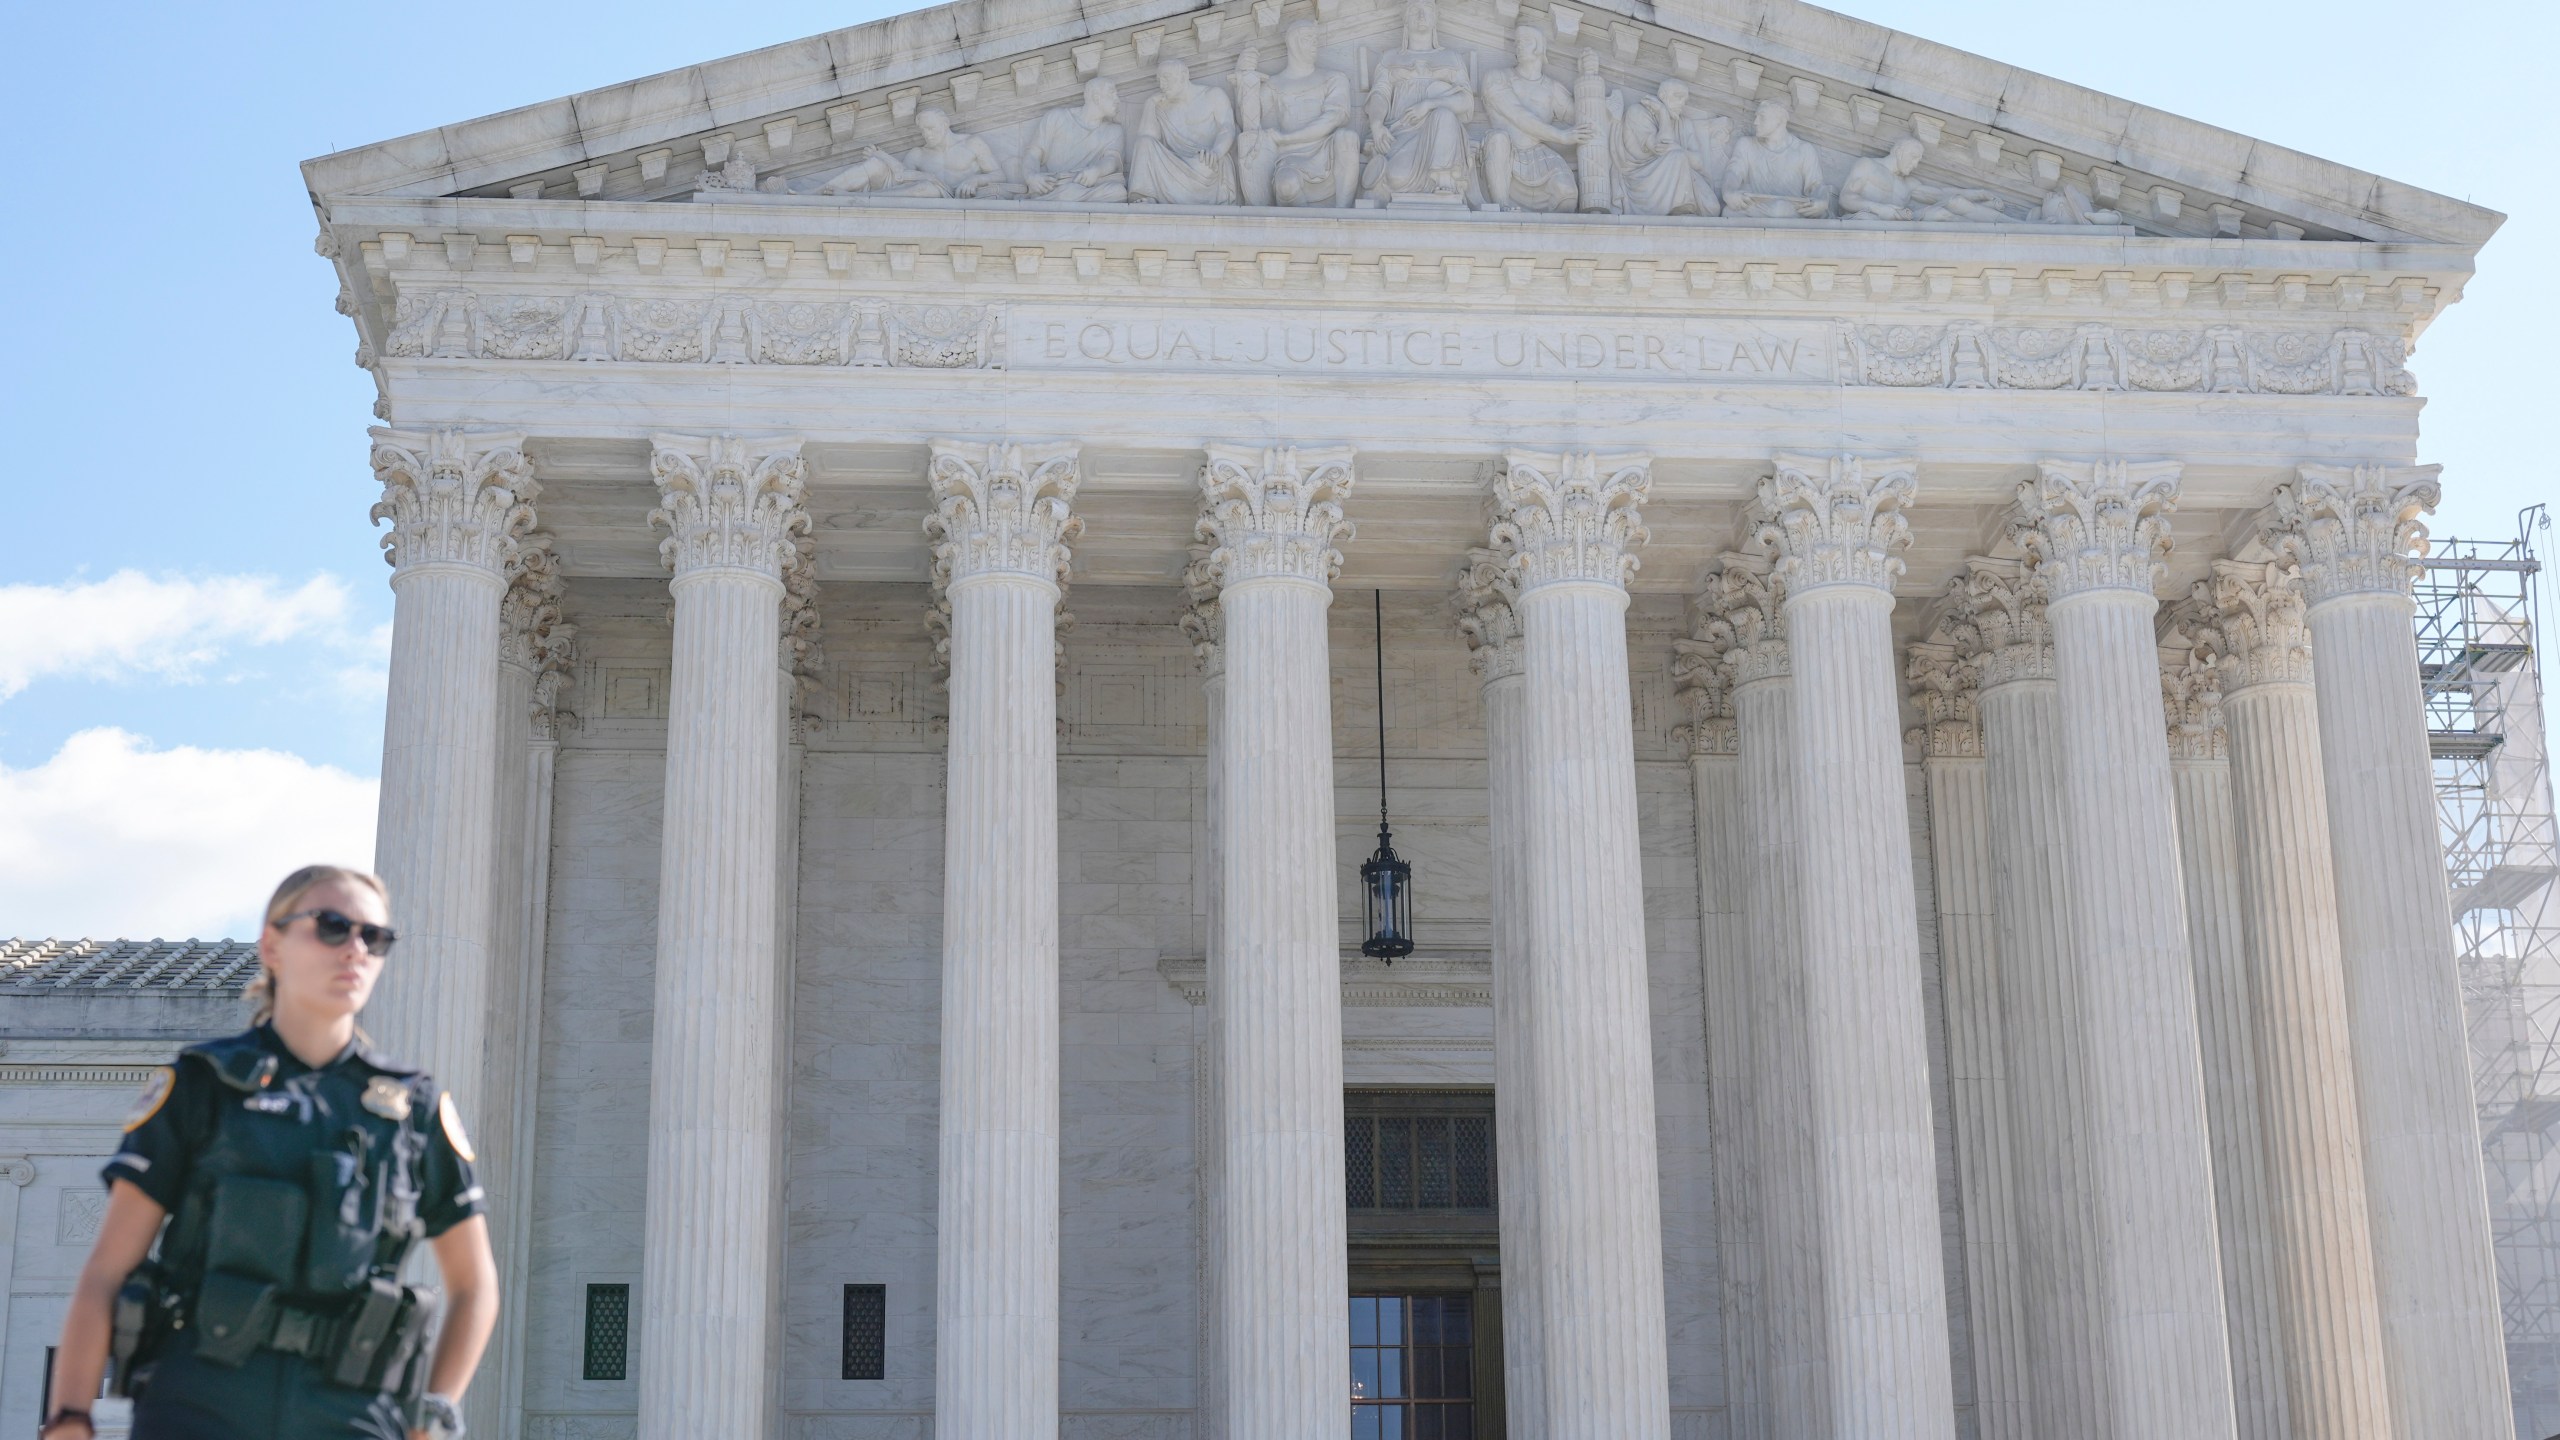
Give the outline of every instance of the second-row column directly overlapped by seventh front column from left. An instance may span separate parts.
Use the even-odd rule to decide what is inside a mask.
[[[1940,625],[1974,666],[1981,712],[2035,1422],[2104,1437],[2107,1281],[2081,1051],[2089,1020],[2066,899],[2063,720],[2045,584],[2015,561],[1974,559],[1948,584]]]

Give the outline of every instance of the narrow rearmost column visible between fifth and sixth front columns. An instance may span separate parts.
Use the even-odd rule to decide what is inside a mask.
[[[1715,1163],[1718,1314],[1725,1358],[1728,1440],[1769,1440],[1769,1294],[1761,1215],[1761,1097],[1741,733],[1733,720],[1733,633],[1708,584],[1690,638],[1672,641],[1672,684],[1687,710],[1690,787],[1697,805],[1697,951],[1708,1012],[1708,1138]]]

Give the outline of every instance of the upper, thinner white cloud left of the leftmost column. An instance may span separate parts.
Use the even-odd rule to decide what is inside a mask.
[[[317,574],[287,589],[264,574],[202,579],[115,571],[67,584],[0,584],[0,700],[46,676],[202,679],[238,648],[323,641],[371,653],[353,630],[346,582]]]

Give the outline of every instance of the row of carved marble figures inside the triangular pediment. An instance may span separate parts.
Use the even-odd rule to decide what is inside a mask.
[[[1841,220],[1859,225],[2125,225],[2084,184],[2040,172],[2043,195],[1920,179],[1928,146],[1841,154],[1795,131],[1784,95],[1751,102],[1748,131],[1697,102],[1690,82],[1610,87],[1597,49],[1551,74],[1549,31],[1516,26],[1508,64],[1441,36],[1436,0],[1405,0],[1385,54],[1359,74],[1324,64],[1324,26],[1283,33],[1262,69],[1234,74],[1157,46],[1155,92],[1091,77],[1075,105],[988,133],[950,110],[914,113],[919,143],[865,146],[852,164],[763,174],[740,151],[696,179],[696,197],[1027,200],[1050,205],[1472,208],[1659,218]],[[1620,59],[1628,51],[1620,49]]]

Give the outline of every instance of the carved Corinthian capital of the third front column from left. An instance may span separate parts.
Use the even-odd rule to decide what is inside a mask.
[[[934,441],[927,469],[934,512],[924,518],[934,538],[934,584],[947,589],[980,574],[1065,582],[1068,541],[1085,528],[1070,512],[1083,482],[1078,456],[1073,441]]]

